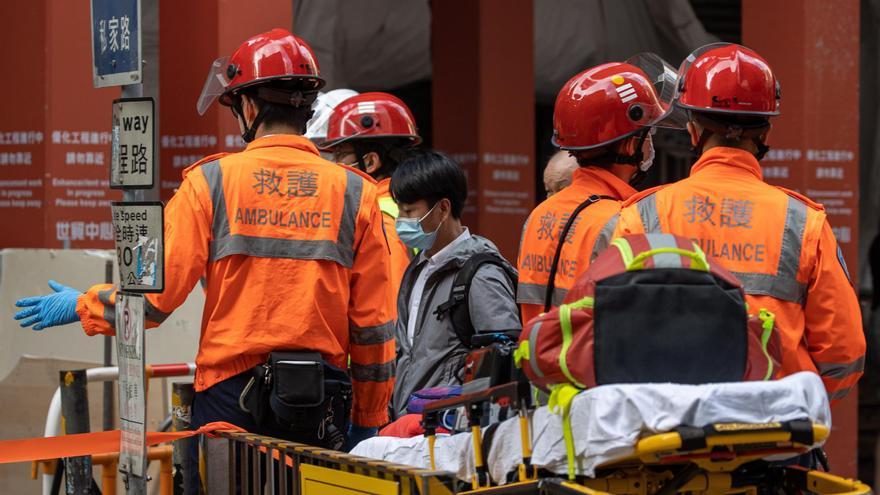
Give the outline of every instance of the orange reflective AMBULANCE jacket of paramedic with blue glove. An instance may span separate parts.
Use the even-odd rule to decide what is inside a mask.
[[[161,323],[207,274],[195,389],[274,350],[351,358],[352,420],[387,422],[395,301],[372,179],[319,157],[306,138],[257,139],[184,172],[165,210],[165,291],[146,296]],[[115,333],[115,288],[97,285],[77,313],[89,335]]]

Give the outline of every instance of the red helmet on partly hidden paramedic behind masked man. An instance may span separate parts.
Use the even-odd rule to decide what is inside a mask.
[[[406,104],[388,93],[363,93],[336,106],[327,123],[329,149],[349,139],[397,138],[410,145],[422,142],[416,122]]]

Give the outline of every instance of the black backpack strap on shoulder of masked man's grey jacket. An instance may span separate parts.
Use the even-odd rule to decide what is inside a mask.
[[[449,313],[452,318],[452,328],[455,330],[458,339],[466,347],[473,346],[471,337],[473,337],[475,332],[473,322],[471,322],[468,295],[471,292],[471,283],[474,280],[474,276],[485,264],[501,268],[511,283],[511,287],[516,287],[519,276],[504,259],[493,253],[475,254],[468,258],[455,274],[455,278],[452,280],[452,289],[449,291],[449,299],[437,306],[437,309],[434,311],[438,320],[443,319],[447,312]]]

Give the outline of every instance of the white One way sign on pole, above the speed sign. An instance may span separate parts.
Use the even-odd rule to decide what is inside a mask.
[[[153,139],[156,129],[152,98],[113,100],[110,187],[153,187]]]

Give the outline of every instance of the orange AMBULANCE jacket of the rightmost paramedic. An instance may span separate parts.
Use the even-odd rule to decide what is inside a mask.
[[[864,368],[859,302],[821,205],[766,184],[747,151],[715,147],[691,175],[630,198],[615,237],[667,232],[691,238],[743,282],[751,313],[776,315],[782,371],[814,371],[832,401]]]

